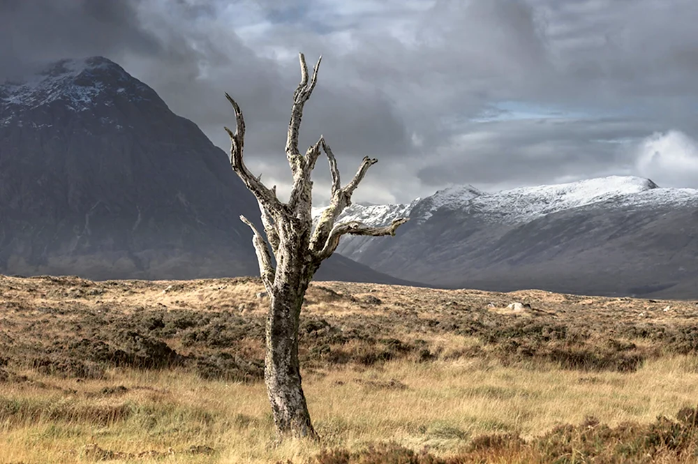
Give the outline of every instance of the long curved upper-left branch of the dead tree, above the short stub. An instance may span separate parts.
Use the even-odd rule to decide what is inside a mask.
[[[260,180],[262,177],[261,175],[259,177],[254,177],[242,160],[245,144],[245,119],[242,116],[242,110],[240,110],[237,102],[233,100],[228,93],[225,93],[225,98],[228,98],[230,105],[232,105],[233,110],[235,110],[235,133],[229,128],[224,127],[225,132],[230,136],[230,165],[232,166],[232,170],[242,179],[248,190],[257,197],[258,202],[263,204],[267,211],[271,214],[281,214],[283,213],[283,204],[276,198],[276,193],[262,184]]]

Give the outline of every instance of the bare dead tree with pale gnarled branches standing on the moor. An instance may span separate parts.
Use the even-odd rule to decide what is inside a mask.
[[[230,164],[232,170],[255,195],[262,213],[265,237],[244,216],[240,219],[251,227],[253,245],[259,261],[262,282],[269,294],[270,306],[266,328],[265,384],[272,404],[274,424],[279,439],[286,435],[317,438],[301,387],[298,363],[298,322],[303,297],[308,285],[323,260],[339,245],[344,234],[383,236],[395,235],[395,230],[406,223],[407,218],[396,219],[385,227],[369,227],[355,221],[336,223],[341,212],[351,204],[354,190],[366,171],[377,160],[364,157],[354,178],[341,185],[339,169],[325,139],[313,144],[305,154],[298,151],[298,130],[303,106],[315,88],[320,59],[309,76],[305,57],[299,54],[302,78],[293,93],[291,119],[286,137],[286,158],[293,176],[293,186],[288,203],[276,196],[276,186],[267,188],[260,177],[255,177],[242,160],[245,139],[245,122],[242,111],[228,93],[225,97],[235,110],[235,133],[230,135]],[[315,162],[325,152],[332,172],[332,200],[313,230],[311,217],[311,172]],[[272,255],[274,260],[272,260]]]

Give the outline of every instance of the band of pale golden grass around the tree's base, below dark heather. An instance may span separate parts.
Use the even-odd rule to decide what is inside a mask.
[[[322,446],[359,450],[374,442],[447,456],[482,433],[542,435],[556,424],[648,423],[695,406],[695,357],[650,361],[635,373],[526,369],[483,359],[415,364],[394,361],[364,370],[306,375],[304,387]],[[209,382],[183,371],[110,371],[107,380],[0,384],[0,463],[85,463],[85,446],[138,454],[174,454],[110,462],[302,462],[320,445],[273,446],[264,385]],[[37,384],[36,382],[44,382]],[[101,393],[123,386],[121,394]],[[10,408],[14,408],[10,410]],[[192,446],[216,450],[188,454]]]

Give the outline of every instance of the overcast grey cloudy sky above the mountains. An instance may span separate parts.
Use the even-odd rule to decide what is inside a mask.
[[[301,145],[324,134],[345,181],[380,160],[355,200],[611,174],[698,187],[696,24],[696,0],[0,0],[0,77],[103,55],[225,151],[228,91],[248,166],[283,194],[297,52],[322,54]]]

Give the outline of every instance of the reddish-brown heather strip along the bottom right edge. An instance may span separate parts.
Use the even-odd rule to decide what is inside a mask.
[[[698,410],[684,408],[679,420],[658,417],[651,424],[599,424],[588,417],[577,426],[557,426],[526,441],[516,434],[480,435],[457,456],[440,458],[389,443],[361,451],[323,450],[307,464],[476,464],[476,463],[695,463]]]

